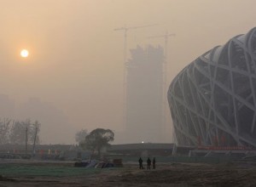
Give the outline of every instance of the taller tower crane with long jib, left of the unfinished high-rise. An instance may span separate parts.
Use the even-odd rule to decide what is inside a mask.
[[[126,59],[127,59],[127,31],[134,30],[134,29],[140,29],[140,28],[145,28],[149,26],[157,26],[157,24],[153,25],[145,25],[145,26],[122,26],[119,28],[115,28],[113,31],[124,31],[124,57],[123,57],[123,63],[124,63],[124,77],[123,77],[123,124],[124,127],[126,127]]]

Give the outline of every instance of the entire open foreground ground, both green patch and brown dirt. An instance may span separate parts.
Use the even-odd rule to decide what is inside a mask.
[[[137,162],[123,167],[73,167],[73,161],[0,161],[0,186],[256,186],[256,163],[156,163],[140,170]],[[146,167],[144,165],[144,167]]]

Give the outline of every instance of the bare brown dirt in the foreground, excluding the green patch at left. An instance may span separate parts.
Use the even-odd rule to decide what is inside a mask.
[[[1,163],[0,163],[1,164]],[[44,163],[40,163],[40,166]],[[49,163],[47,163],[49,165]],[[33,163],[33,166],[35,163]],[[0,173],[1,174],[1,173]],[[137,163],[124,167],[98,169],[79,176],[4,176],[0,186],[256,186],[256,163],[223,164],[157,163],[155,170],[140,170]]]

